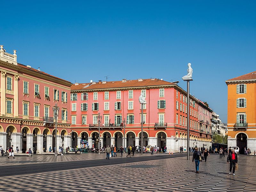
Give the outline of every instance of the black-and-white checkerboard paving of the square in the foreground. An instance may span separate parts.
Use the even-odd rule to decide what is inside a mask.
[[[201,162],[199,174],[192,160],[180,157],[2,177],[0,191],[256,191],[256,156],[239,155],[235,176],[228,174],[226,158],[218,157]]]

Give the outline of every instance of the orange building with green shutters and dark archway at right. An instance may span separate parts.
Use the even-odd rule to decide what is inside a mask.
[[[256,150],[256,71],[226,81],[228,85],[228,146]]]

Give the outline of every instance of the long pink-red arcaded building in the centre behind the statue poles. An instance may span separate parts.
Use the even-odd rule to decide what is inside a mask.
[[[176,83],[159,79],[92,82],[71,86],[72,146],[101,147],[141,145],[141,105],[143,93],[143,145],[168,151],[185,147],[187,138],[187,93]],[[210,146],[211,134],[201,132],[198,121],[199,101],[190,96],[190,146]],[[98,119],[100,123],[100,138]],[[125,126],[125,127],[124,127]],[[125,130],[124,130],[125,128]]]

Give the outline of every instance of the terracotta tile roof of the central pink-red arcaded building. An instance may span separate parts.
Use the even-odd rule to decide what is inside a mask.
[[[89,86],[88,86],[89,85]],[[84,83],[84,84],[73,84],[71,85],[71,91],[74,90],[91,90],[91,89],[115,89],[122,87],[142,87],[142,86],[156,86],[156,85],[174,85],[173,83],[163,81],[160,79],[143,79],[142,81],[136,80],[127,80],[126,82],[122,81],[108,81],[107,83]]]

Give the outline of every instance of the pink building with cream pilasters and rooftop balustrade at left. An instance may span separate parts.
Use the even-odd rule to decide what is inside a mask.
[[[57,145],[68,147],[70,137],[70,82],[17,63],[17,55],[0,45],[0,145],[42,154]],[[52,107],[60,108],[55,133]]]

